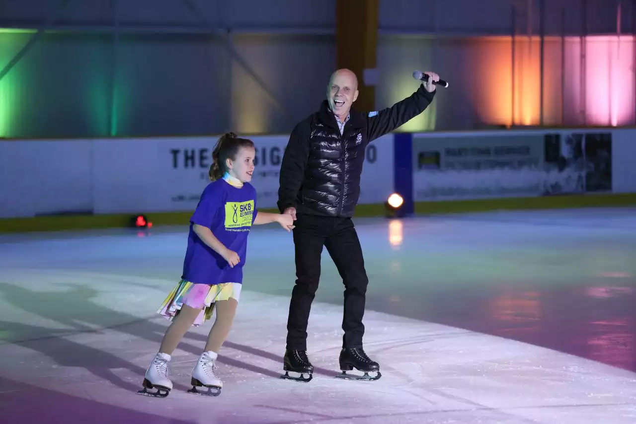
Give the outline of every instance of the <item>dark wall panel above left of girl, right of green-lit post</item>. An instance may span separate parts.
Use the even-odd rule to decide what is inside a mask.
[[[227,60],[211,36],[122,36],[117,135],[199,135],[226,128]]]

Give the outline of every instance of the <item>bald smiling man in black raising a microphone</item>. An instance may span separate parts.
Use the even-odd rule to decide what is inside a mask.
[[[435,95],[434,72],[410,97],[382,111],[352,109],[358,96],[357,78],[339,69],[329,79],[327,99],[319,111],[296,125],[280,167],[278,207],[291,214],[295,228],[296,285],[287,319],[287,346],[281,378],[310,381],[314,372],[307,356],[307,323],[318,289],[323,246],[345,285],[340,351],[341,378],[377,380],[380,366],[363,349],[364,303],[369,282],[356,228],[352,221],[360,195],[366,146],[424,112]],[[391,172],[391,170],[387,170]],[[357,369],[364,376],[346,371]],[[289,372],[300,373],[300,377]],[[368,373],[375,373],[369,376]],[[308,377],[305,377],[308,374]]]

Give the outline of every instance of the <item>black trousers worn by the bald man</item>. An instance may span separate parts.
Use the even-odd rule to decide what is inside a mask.
[[[318,289],[322,247],[342,277],[345,303],[343,347],[363,346],[364,302],[369,279],[356,228],[350,218],[297,215],[294,225],[296,285],[291,293],[287,318],[287,349],[307,350],[307,324]]]

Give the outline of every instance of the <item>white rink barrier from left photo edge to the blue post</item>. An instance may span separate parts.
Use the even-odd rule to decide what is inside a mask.
[[[289,136],[249,138],[256,144],[258,207],[275,208]],[[360,203],[382,203],[391,195],[393,138],[385,135],[367,147]],[[0,217],[193,210],[209,184],[217,139],[1,140]]]

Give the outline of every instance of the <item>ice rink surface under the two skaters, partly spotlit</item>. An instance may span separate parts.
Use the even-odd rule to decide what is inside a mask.
[[[219,397],[186,393],[210,324],[142,397],[187,227],[0,236],[2,423],[636,423],[636,210],[356,219],[378,381],[334,378],[342,280],[326,250],[310,383],[279,380],[291,235],[250,236]]]

